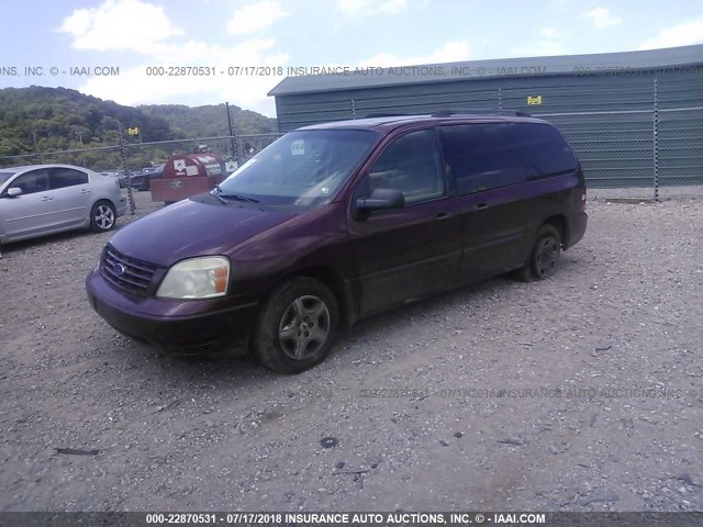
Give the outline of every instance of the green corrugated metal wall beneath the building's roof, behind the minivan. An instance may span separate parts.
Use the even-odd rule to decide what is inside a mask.
[[[679,72],[559,75],[425,82],[276,97],[279,130],[370,113],[517,109],[554,122],[594,187],[649,187],[655,173],[655,79],[660,184],[703,182],[703,67]],[[542,96],[540,105],[527,97]],[[685,109],[685,110],[682,110]]]

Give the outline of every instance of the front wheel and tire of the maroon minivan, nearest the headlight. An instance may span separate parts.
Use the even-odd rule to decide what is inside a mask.
[[[330,288],[300,277],[266,300],[254,335],[254,351],[268,369],[299,373],[324,360],[339,326],[339,307]]]

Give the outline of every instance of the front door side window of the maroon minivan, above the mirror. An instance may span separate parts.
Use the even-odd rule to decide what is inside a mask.
[[[446,194],[440,166],[434,131],[411,132],[388,145],[376,160],[369,170],[368,191],[400,190],[405,204],[434,200]]]

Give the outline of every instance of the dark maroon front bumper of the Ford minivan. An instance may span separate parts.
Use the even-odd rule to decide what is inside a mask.
[[[249,330],[256,322],[256,302],[215,309],[212,301],[134,300],[115,290],[98,269],[86,279],[91,307],[118,332],[164,348],[172,355],[196,356],[219,350],[248,351]],[[168,315],[188,303],[194,311]],[[192,310],[194,307],[194,310]],[[209,311],[213,307],[213,311]]]

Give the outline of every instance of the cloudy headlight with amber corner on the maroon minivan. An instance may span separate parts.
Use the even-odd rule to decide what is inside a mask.
[[[191,258],[168,270],[156,295],[164,299],[213,299],[226,294],[228,281],[230,261],[226,258]]]

